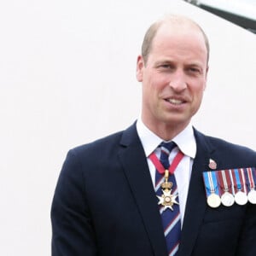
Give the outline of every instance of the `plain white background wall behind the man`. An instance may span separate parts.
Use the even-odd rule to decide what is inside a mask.
[[[254,34],[176,0],[1,1],[1,255],[50,255],[49,208],[67,150],[137,119],[143,34],[170,12],[197,20],[211,41],[195,126],[256,148]]]

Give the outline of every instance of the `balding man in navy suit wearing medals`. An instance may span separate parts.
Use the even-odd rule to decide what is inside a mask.
[[[206,88],[208,56],[207,37],[192,20],[168,16],[148,29],[137,58],[141,118],[68,153],[52,205],[52,255],[256,255],[256,206],[232,202],[245,193],[244,177],[253,178],[246,172],[254,173],[256,153],[190,124]],[[170,141],[174,149],[160,148]],[[157,174],[164,151],[168,164]],[[220,204],[224,193],[231,200]],[[163,216],[174,212],[166,229]]]

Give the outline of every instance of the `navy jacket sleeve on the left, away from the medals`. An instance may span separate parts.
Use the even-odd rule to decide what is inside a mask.
[[[84,189],[83,172],[71,150],[62,167],[51,207],[52,256],[96,255],[96,236]]]

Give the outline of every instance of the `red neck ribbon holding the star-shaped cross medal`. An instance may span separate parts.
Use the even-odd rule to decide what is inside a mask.
[[[183,159],[184,154],[181,151],[178,151],[174,159],[172,160],[172,164],[169,166],[168,171],[170,174],[173,174],[173,172],[176,170],[178,164]],[[160,160],[156,156],[156,154],[153,152],[149,155],[149,159],[154,164],[154,167],[160,174],[164,174],[166,172],[166,168],[160,163]]]

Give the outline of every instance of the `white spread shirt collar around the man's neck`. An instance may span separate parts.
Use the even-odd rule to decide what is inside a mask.
[[[137,133],[138,137],[143,144],[143,148],[146,156],[154,152],[160,143],[163,141],[160,137],[150,131],[146,125],[143,124],[142,119],[137,120]],[[193,127],[189,124],[183,131],[177,134],[176,137],[172,139],[172,142],[177,144],[177,147],[183,152],[183,154],[188,155],[192,159],[195,158],[196,153],[196,143]]]

